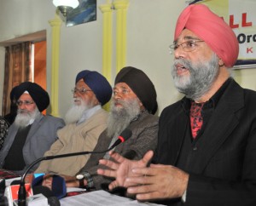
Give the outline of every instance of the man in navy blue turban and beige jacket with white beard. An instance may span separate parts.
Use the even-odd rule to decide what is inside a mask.
[[[67,111],[67,125],[57,133],[59,140],[44,156],[93,151],[106,129],[108,112],[102,109],[112,95],[112,87],[99,72],[84,70],[75,80],[73,106]],[[90,155],[56,158],[42,162],[36,173],[75,175]]]

